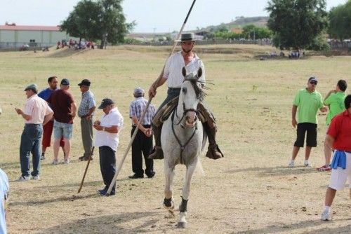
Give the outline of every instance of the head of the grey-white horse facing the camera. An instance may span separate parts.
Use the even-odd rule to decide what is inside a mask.
[[[183,105],[185,127],[194,128],[197,121],[197,104],[204,99],[204,92],[199,83],[202,69],[200,67],[197,73],[187,74],[185,67],[183,67],[182,74],[184,76],[184,81],[180,90],[178,105]]]

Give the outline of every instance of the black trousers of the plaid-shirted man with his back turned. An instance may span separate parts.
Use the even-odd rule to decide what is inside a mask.
[[[143,125],[144,128],[150,128],[151,125]],[[132,127],[131,135],[135,131],[135,126]],[[144,174],[143,170],[143,156],[145,160],[145,174],[150,175],[154,171],[154,160],[147,158],[152,151],[152,136],[147,137],[143,132],[138,130],[132,144],[132,170],[138,175]],[[143,153],[143,156],[142,156]]]

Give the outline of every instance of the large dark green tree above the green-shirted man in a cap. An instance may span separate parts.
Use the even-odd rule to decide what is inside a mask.
[[[274,46],[281,50],[313,47],[328,25],[325,8],[325,0],[270,0],[267,26]]]

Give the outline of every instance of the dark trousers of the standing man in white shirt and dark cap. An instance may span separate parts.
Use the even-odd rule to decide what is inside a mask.
[[[99,147],[100,170],[105,188],[107,189],[116,173],[116,153],[109,146]],[[112,192],[116,190],[116,184],[112,188]]]

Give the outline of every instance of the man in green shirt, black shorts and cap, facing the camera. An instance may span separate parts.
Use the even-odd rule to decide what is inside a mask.
[[[322,95],[316,90],[318,80],[317,77],[312,76],[308,78],[307,87],[298,90],[295,99],[293,100],[293,108],[291,110],[293,128],[297,125],[297,138],[293,144],[293,153],[289,167],[295,167],[295,158],[298,155],[300,147],[303,147],[306,137],[306,151],[305,151],[305,167],[312,167],[308,160],[312,147],[317,146],[317,111],[328,111],[326,106],[323,106]],[[298,121],[296,121],[296,112],[298,112]]]

